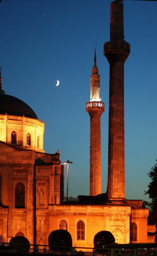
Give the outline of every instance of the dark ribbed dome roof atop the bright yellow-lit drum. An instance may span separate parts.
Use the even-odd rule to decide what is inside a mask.
[[[36,113],[25,102],[16,97],[0,93],[0,114],[37,118]]]

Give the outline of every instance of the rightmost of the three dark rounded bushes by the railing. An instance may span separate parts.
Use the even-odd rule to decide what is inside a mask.
[[[94,236],[94,248],[103,248],[106,244],[115,244],[114,236],[109,231],[98,232]]]

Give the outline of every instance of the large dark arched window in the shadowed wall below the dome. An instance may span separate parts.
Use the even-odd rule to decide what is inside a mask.
[[[15,187],[15,208],[25,208],[25,187],[21,182]]]

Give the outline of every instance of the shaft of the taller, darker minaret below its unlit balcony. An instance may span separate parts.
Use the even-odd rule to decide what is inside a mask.
[[[108,197],[125,198],[124,65],[110,64],[108,130]]]

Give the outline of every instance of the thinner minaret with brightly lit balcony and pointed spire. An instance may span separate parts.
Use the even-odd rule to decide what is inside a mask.
[[[90,196],[101,194],[101,134],[100,117],[104,103],[100,98],[100,76],[96,66],[96,49],[91,75],[91,100],[86,103],[90,115]]]

